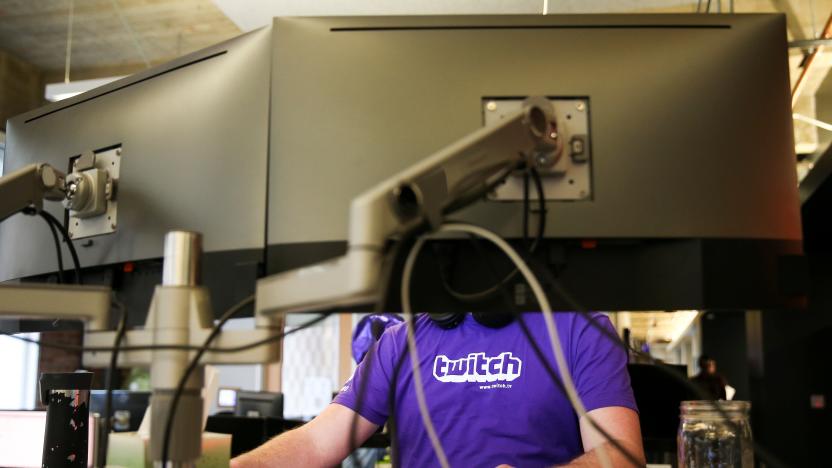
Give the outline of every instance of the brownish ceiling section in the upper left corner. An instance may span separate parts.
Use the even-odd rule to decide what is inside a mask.
[[[70,72],[85,78],[136,71],[240,33],[210,0],[0,0],[0,49],[63,78],[70,4]]]

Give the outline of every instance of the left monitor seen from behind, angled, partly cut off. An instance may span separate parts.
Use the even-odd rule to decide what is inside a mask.
[[[85,151],[119,152],[114,232],[74,243],[86,282],[119,290],[131,325],[144,323],[161,282],[170,230],[204,234],[202,278],[219,313],[254,291],[266,235],[271,37],[244,34],[7,122],[5,174],[36,162],[67,171]],[[60,204],[45,207],[64,220]],[[0,281],[56,271],[53,245],[37,217],[0,223]],[[69,258],[64,248],[71,269]]]

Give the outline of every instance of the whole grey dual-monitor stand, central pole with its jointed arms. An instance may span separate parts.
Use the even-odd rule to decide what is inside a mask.
[[[281,312],[314,311],[374,301],[384,244],[391,236],[416,226],[438,228],[446,214],[473,203],[514,169],[523,165],[554,164],[561,148],[551,103],[545,98],[532,98],[522,111],[500,124],[477,130],[391,177],[353,200],[346,256],[258,281],[258,328],[224,332],[217,336],[215,346],[236,346],[273,337],[282,328]],[[3,200],[0,207],[4,210],[0,219],[26,206],[40,207],[43,198],[62,198],[64,179],[49,185],[48,176],[49,169],[33,165],[0,179],[0,195],[21,192],[14,202],[6,202],[0,196]],[[7,189],[12,184],[16,188]],[[61,197],[53,192],[55,189]],[[155,291],[146,326],[128,331],[123,346],[204,343],[210,333],[212,314],[207,291],[198,284],[200,253],[198,234],[183,231],[168,234],[162,285]],[[115,332],[88,329],[84,338],[87,346],[111,346]],[[161,459],[164,424],[171,410],[174,389],[192,355],[193,351],[173,349],[131,350],[120,355],[122,367],[149,365],[151,368],[150,457],[154,461]],[[109,357],[109,352],[87,351],[84,363],[107,365]],[[273,340],[270,345],[235,354],[209,351],[202,363],[258,363],[279,357],[279,346]],[[186,382],[186,391],[173,420],[170,459],[174,463],[193,462],[201,451],[201,431],[194,430],[200,427],[201,370],[200,366]]]

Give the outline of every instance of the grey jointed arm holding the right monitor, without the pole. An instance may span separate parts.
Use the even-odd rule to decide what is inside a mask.
[[[529,98],[499,124],[478,129],[363,193],[350,206],[345,256],[257,282],[256,312],[313,312],[372,304],[385,243],[481,198],[523,165],[542,168],[562,150],[552,104]]]

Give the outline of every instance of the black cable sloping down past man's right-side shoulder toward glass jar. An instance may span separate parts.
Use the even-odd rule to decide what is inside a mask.
[[[648,353],[644,353],[640,350],[634,349],[629,345],[629,343],[624,343],[618,337],[617,334],[610,332],[606,327],[600,325],[599,323],[595,322],[592,316],[587,312],[587,309],[583,307],[580,302],[578,302],[569,291],[563,286],[563,284],[558,281],[557,278],[543,265],[540,265],[536,260],[529,259],[528,260],[529,266],[533,267],[535,271],[541,273],[546,281],[548,281],[552,287],[557,291],[557,293],[569,304],[569,307],[579,313],[584,319],[589,322],[589,324],[601,332],[601,334],[611,341],[616,346],[623,348],[626,352],[632,352],[639,357],[644,358],[647,360],[651,365],[655,366],[659,369],[662,373],[666,374],[667,376],[673,378],[678,383],[682,384],[686,389],[693,392],[697,398],[700,400],[711,400],[711,398],[705,394],[705,392],[697,385],[694,385],[690,380],[686,379],[684,376],[681,376],[673,369],[667,367],[667,365],[663,362],[658,361],[654,357],[650,356]],[[718,401],[712,402],[713,408],[719,413],[722,417],[724,422],[734,431],[739,432],[739,427],[737,424],[731,419],[730,415],[725,411],[722,405]],[[764,461],[767,465],[772,466],[774,468],[786,468],[789,465],[784,463],[780,460],[777,456],[769,452],[768,449],[763,447],[759,444],[759,442],[752,441],[754,446],[754,453],[757,454],[762,461]]]

